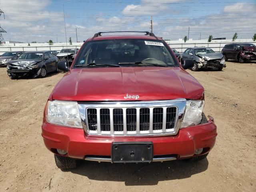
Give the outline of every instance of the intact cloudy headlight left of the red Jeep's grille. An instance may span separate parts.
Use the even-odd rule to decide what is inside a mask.
[[[74,101],[48,101],[46,121],[56,125],[82,128],[78,104]]]

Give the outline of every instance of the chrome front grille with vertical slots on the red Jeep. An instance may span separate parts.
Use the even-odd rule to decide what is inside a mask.
[[[78,104],[84,130],[94,136],[177,134],[185,99]]]

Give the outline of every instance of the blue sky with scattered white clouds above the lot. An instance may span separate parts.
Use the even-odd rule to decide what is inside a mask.
[[[83,42],[100,31],[150,31],[168,40],[256,33],[256,0],[0,0],[4,40]],[[65,22],[66,21],[66,35]],[[4,19],[5,17],[5,19]]]

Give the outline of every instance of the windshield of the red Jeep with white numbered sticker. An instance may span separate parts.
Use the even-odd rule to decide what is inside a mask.
[[[74,67],[92,67],[91,64],[179,66],[162,41],[143,39],[90,41],[80,49]]]

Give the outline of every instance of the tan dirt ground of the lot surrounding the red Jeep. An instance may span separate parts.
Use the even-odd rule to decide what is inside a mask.
[[[41,137],[46,100],[64,73],[10,80],[0,68],[0,191],[256,192],[256,63],[188,70],[204,86],[218,136],[207,160],[151,164],[82,162],[62,171]],[[50,187],[49,187],[50,184]]]

